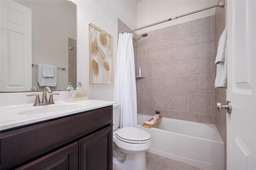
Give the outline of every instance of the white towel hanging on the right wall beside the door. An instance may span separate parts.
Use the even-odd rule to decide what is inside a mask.
[[[220,36],[218,51],[215,59],[217,65],[215,87],[227,88],[228,82],[228,50],[227,50],[228,29],[227,26]]]

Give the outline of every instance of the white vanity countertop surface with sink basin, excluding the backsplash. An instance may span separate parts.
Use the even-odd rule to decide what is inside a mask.
[[[116,103],[87,99],[73,102],[56,101],[55,104],[46,106],[32,106],[32,103],[3,106],[0,108],[0,130],[90,111]]]

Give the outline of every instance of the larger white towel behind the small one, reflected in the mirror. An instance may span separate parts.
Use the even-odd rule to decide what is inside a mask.
[[[42,73],[42,64],[38,64],[37,83],[39,86],[57,86],[57,69],[54,69],[54,77],[44,77]]]

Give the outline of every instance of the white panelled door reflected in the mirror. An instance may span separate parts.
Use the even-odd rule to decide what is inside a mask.
[[[1,88],[26,91],[32,85],[31,10],[11,0],[1,0]]]

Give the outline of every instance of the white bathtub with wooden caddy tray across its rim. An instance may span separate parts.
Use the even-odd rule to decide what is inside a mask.
[[[150,118],[138,114],[138,128],[151,134],[148,152],[205,170],[224,170],[224,142],[215,125],[163,118],[154,128],[142,127]]]

